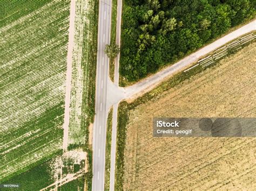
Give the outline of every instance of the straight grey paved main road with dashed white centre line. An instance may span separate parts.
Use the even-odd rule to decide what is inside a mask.
[[[92,190],[104,190],[105,142],[107,121],[107,84],[109,59],[104,53],[110,43],[111,0],[99,3],[98,54],[96,76],[96,116],[93,126],[93,178]]]

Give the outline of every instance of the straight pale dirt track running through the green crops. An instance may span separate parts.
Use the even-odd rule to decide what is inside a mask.
[[[75,16],[76,16],[76,1],[70,2],[70,20],[69,20],[69,43],[68,43],[68,58],[66,68],[66,92],[65,92],[65,113],[64,113],[64,135],[63,135],[63,150],[66,151],[69,140],[69,111],[71,97],[71,79],[72,79],[72,50],[74,44],[75,31]]]

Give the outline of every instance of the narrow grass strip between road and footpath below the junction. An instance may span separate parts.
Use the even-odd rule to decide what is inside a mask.
[[[112,117],[113,117],[113,108],[110,109],[109,116],[107,117],[106,151],[105,151],[105,185],[104,185],[105,190],[109,190],[109,186],[110,186]]]

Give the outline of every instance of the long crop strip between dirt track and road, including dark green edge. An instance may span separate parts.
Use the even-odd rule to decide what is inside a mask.
[[[75,47],[72,60],[72,90],[69,124],[69,144],[85,144],[86,131],[93,115],[96,54],[96,25],[94,16],[96,2],[80,0],[76,2]]]

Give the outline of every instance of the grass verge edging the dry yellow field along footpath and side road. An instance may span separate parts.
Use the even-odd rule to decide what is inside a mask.
[[[255,40],[253,42],[255,44]],[[244,48],[246,48],[246,46],[250,46],[251,44],[253,44],[253,42],[245,45]],[[251,45],[251,46],[253,46],[253,45]],[[240,51],[244,51],[244,50],[240,49]],[[230,58],[230,55],[232,55],[232,54],[235,55],[235,53],[237,53],[237,52],[230,53],[229,55],[225,56],[221,60],[224,60],[225,58]],[[131,118],[133,116],[138,117],[138,115],[143,115],[142,113],[132,114],[132,112],[140,105],[148,104],[149,102],[157,102],[162,95],[165,95],[168,93],[168,90],[170,90],[172,88],[176,88],[178,86],[180,87],[183,83],[187,82],[192,77],[199,75],[199,74],[203,74],[203,72],[205,70],[210,71],[210,70],[214,70],[216,67],[218,68],[218,65],[220,62],[223,64],[223,62],[221,60],[219,60],[218,62],[215,62],[212,65],[209,65],[205,68],[195,67],[195,68],[188,70],[186,73],[179,72],[179,73],[173,75],[169,80],[161,83],[158,87],[154,88],[149,93],[144,94],[143,96],[137,98],[136,100],[132,101],[131,103],[128,103],[126,101],[120,102],[119,107],[118,107],[118,118],[117,118],[117,152],[116,152],[115,189],[117,189],[117,190],[125,189],[124,181],[126,181],[126,182],[129,181],[126,179],[125,171],[132,170],[133,173],[135,173],[135,174],[131,174],[132,177],[137,176],[136,174],[139,171],[138,167],[136,167],[135,169],[127,169],[127,167],[124,167],[124,165],[125,165],[125,150],[130,150],[130,149],[136,150],[136,148],[131,148],[131,147],[136,147],[136,144],[138,144],[138,143],[134,143],[135,145],[134,144],[129,145],[130,146],[129,148],[126,147],[127,146],[126,145],[127,144],[126,137],[127,137],[127,133],[128,133],[127,125],[129,124],[129,120],[131,120]],[[150,112],[150,111],[148,110],[148,111],[144,111],[144,112]],[[136,123],[138,123],[138,122],[136,122]],[[139,127],[137,127],[137,130],[138,129],[139,129]],[[147,131],[151,132],[151,130],[149,130],[149,129],[147,129]],[[147,134],[150,134],[150,132],[147,132]],[[138,140],[138,137],[136,137],[137,132],[130,132],[130,135],[131,135],[131,133],[134,136],[133,140]],[[152,135],[149,136],[148,139],[150,139],[150,137],[152,137]],[[147,140],[144,140],[144,141],[147,142]],[[143,143],[140,143],[140,144],[143,144]],[[137,152],[137,151],[134,151],[134,152]],[[158,154],[160,155],[160,153],[158,153]],[[151,172],[151,173],[153,173],[153,172]],[[131,180],[133,180],[133,179],[131,178]],[[128,183],[128,185],[129,185],[129,183]],[[139,181],[137,182],[137,185],[139,185]],[[131,189],[131,187],[130,187],[130,189]],[[138,187],[137,187],[137,189],[138,189]]]

